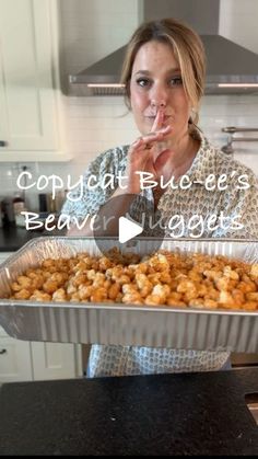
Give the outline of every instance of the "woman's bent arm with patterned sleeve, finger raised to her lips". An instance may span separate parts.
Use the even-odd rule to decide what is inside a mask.
[[[91,192],[86,186],[86,179],[84,180],[84,196],[83,202],[79,202],[72,206],[67,203],[63,206],[64,213],[77,216],[80,213],[80,219],[86,217],[86,215],[96,215],[96,226],[98,230],[97,236],[117,236],[119,229],[119,218],[125,216],[130,210],[131,203],[141,192],[140,186],[140,171],[151,172],[153,177],[159,175],[159,171],[155,169],[155,157],[153,147],[157,141],[163,140],[171,131],[171,126],[162,128],[163,114],[157,112],[151,133],[137,139],[129,148],[127,154],[127,167],[125,171],[125,177],[127,177],[127,186],[120,188],[117,187],[115,192],[106,191],[106,195],[103,195],[101,187]],[[114,170],[114,162],[112,164],[105,164],[102,158],[98,157],[94,161],[86,173],[94,173],[95,176],[99,177],[104,173],[110,173]],[[114,171],[113,171],[114,172]],[[117,197],[117,199],[115,199]],[[118,199],[119,197],[119,199]],[[104,202],[104,204],[102,204]],[[98,205],[99,203],[99,205]],[[78,213],[77,213],[78,209]],[[71,213],[69,211],[71,210]],[[79,229],[73,226],[69,231],[68,236],[93,236],[94,229],[91,222],[92,218],[83,225],[83,228]],[[96,228],[96,227],[95,227]]]

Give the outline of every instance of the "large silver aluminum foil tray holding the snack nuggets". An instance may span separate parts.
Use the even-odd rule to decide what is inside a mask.
[[[117,240],[105,240],[107,250],[114,245],[119,246]],[[142,255],[152,248],[151,238],[120,246]],[[161,249],[258,262],[258,241],[251,240],[165,239]],[[26,268],[47,257],[69,257],[82,251],[99,254],[93,238],[33,239],[0,265],[0,298],[10,292],[11,282]],[[258,352],[258,311],[0,299],[0,325],[9,335],[26,341]]]

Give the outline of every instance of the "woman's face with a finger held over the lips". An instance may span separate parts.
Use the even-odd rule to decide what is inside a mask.
[[[190,104],[179,65],[167,44],[151,41],[138,50],[132,66],[130,102],[142,135],[150,133],[159,110],[164,111],[163,126],[173,126],[167,138],[176,139],[187,131]]]

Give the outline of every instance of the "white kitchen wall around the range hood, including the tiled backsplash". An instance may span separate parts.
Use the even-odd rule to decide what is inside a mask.
[[[125,44],[139,23],[139,0],[61,0],[61,64],[62,77],[80,71],[107,53]],[[220,33],[258,53],[257,0],[221,0]],[[83,58],[82,58],[83,56]],[[63,78],[67,81],[67,77]],[[129,144],[138,136],[132,116],[122,97],[66,96],[67,150],[74,159],[66,164],[28,163],[34,175],[58,174],[73,179],[83,173],[89,162],[101,151]],[[224,126],[258,127],[258,94],[204,96],[200,127],[218,146],[226,144]],[[258,137],[258,134],[255,134]],[[258,175],[258,142],[233,144],[235,158],[249,165]],[[11,194],[20,164],[2,163],[2,190]],[[2,195],[2,191],[0,192]],[[35,190],[27,193],[30,207],[37,210]]]

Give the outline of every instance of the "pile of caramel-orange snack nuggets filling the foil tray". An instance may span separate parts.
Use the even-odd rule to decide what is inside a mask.
[[[148,256],[45,260],[11,285],[12,299],[61,302],[166,305],[258,310],[258,264],[222,255],[159,251]]]

